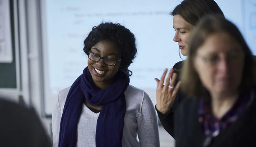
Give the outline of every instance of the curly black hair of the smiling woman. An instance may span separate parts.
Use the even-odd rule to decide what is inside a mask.
[[[101,23],[94,26],[92,31],[84,40],[84,52],[88,55],[91,48],[99,41],[107,40],[114,43],[121,51],[120,69],[129,76],[132,71],[128,67],[133,63],[137,54],[136,39],[134,34],[119,23]]]

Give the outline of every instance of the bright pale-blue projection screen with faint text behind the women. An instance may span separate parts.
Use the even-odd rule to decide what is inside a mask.
[[[216,2],[226,18],[239,27],[255,55],[255,0]],[[181,61],[178,43],[173,41],[173,17],[169,14],[179,3],[180,0],[43,1],[45,113],[51,115],[58,92],[71,86],[87,66],[83,41],[102,21],[120,23],[135,34],[138,56],[129,68],[133,72],[130,84],[145,90],[156,104],[154,78],[160,78],[165,68]]]

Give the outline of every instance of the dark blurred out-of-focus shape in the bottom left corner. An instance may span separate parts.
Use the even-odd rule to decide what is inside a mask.
[[[33,109],[0,99],[0,147],[51,147]]]

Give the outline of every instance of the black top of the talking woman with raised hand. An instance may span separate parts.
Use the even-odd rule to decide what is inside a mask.
[[[183,61],[177,62],[174,66],[173,69],[175,70],[174,72],[178,74],[178,79],[180,80],[180,70],[182,67],[182,63]],[[177,80],[178,82],[178,80]],[[177,84],[176,82],[176,84]],[[175,85],[176,85],[175,84]],[[158,113],[158,117],[160,119],[160,122],[163,126],[163,128],[172,136],[174,137],[174,132],[173,132],[173,119],[174,119],[174,112],[175,110],[178,108],[178,106],[180,105],[181,101],[186,97],[186,95],[179,90],[177,92],[177,95],[175,97],[175,100],[173,102],[173,105],[171,107],[171,109],[169,110],[169,112],[167,112],[166,114],[162,114],[161,112],[159,112],[157,109],[157,113]]]

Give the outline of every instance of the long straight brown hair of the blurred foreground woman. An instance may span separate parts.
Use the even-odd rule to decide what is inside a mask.
[[[198,48],[214,33],[227,33],[242,46],[245,57],[242,83],[239,90],[250,89],[256,86],[255,61],[239,29],[235,24],[219,15],[209,15],[202,19],[191,35],[188,44],[188,57],[182,67],[181,73],[182,90],[188,95],[198,96],[204,94],[205,89],[203,89],[203,84],[194,69],[194,58]]]

